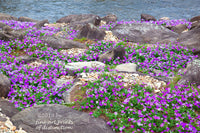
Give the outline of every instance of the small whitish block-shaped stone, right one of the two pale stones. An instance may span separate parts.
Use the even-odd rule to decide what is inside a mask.
[[[115,69],[123,72],[136,72],[136,67],[137,65],[134,63],[126,63],[117,65]]]

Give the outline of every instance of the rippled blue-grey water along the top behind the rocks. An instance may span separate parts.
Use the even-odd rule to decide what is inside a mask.
[[[0,0],[0,12],[55,22],[70,14],[108,13],[118,20],[139,20],[141,13],[170,19],[200,15],[200,0]]]

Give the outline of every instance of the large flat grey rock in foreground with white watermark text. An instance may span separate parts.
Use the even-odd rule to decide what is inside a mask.
[[[101,118],[57,105],[36,105],[11,118],[28,133],[114,133]]]

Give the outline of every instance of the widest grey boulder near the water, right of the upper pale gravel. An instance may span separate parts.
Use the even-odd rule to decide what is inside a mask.
[[[116,25],[112,32],[120,39],[126,38],[129,42],[154,44],[176,41],[178,34],[156,24],[133,23]]]

